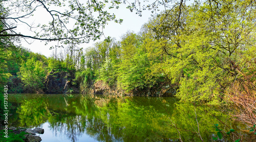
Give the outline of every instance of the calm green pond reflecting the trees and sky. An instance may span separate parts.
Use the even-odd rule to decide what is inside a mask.
[[[175,97],[10,94],[9,101],[9,123],[45,129],[42,141],[211,141],[214,124],[241,128],[222,108]]]

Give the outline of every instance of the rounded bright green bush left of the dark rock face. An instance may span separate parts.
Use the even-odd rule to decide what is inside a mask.
[[[35,61],[34,58],[28,59],[20,67],[20,79],[24,83],[25,89],[30,92],[41,90],[44,86],[46,70],[42,62]]]

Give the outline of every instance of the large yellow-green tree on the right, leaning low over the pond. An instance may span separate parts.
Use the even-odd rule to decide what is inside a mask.
[[[245,67],[243,61],[254,58],[246,55],[255,45],[254,7],[242,1],[196,2],[147,24],[147,36],[158,46],[146,48],[152,55],[165,54],[158,67],[179,86],[177,97],[212,103],[223,99],[223,91]]]

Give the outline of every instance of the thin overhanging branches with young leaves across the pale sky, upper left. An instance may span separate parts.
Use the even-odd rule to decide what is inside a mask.
[[[142,10],[157,10],[160,5],[165,8],[170,1],[155,1],[153,3],[141,3],[140,1],[97,1],[90,0],[79,2],[70,1],[0,1],[0,21],[2,30],[0,37],[31,38],[36,40],[59,41],[64,44],[87,43],[90,40],[99,39],[102,30],[108,21],[121,23],[114,13],[108,9],[118,9],[120,4],[125,4],[130,11],[136,11],[141,16]],[[182,3],[182,2],[181,2]],[[48,23],[34,23],[33,17],[38,17],[38,11],[48,16]],[[26,25],[30,32],[18,33],[17,27]]]

